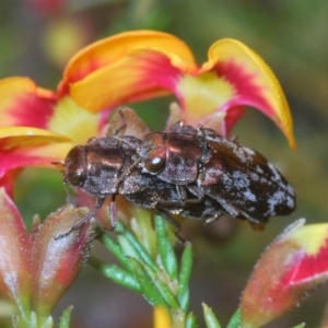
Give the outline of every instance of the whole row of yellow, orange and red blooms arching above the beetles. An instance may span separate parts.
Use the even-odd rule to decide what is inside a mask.
[[[115,107],[168,93],[179,102],[172,106],[171,121],[203,124],[226,136],[244,106],[251,105],[295,145],[280,84],[248,47],[233,39],[216,42],[199,67],[187,45],[173,35],[128,32],[78,52],[57,92],[26,78],[0,81],[1,185],[10,191],[21,167],[54,167],[51,162],[62,161],[72,144],[99,136]]]

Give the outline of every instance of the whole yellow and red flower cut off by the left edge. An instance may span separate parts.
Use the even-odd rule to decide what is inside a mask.
[[[0,184],[26,166],[54,167],[73,143],[85,143],[105,124],[102,115],[79,107],[68,94],[38,87],[27,78],[0,80]]]

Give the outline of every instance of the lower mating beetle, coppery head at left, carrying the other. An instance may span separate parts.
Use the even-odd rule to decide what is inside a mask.
[[[112,197],[109,212],[112,226],[115,227],[117,195],[144,209],[159,210],[178,230],[179,224],[171,214],[207,221],[221,216],[222,208],[215,200],[207,197],[199,199],[189,191],[186,198],[181,198],[175,185],[142,173],[134,165],[136,150],[141,147],[141,142],[138,138],[127,136],[119,139],[92,138],[87,144],[71,149],[61,164],[65,184],[80,188],[97,200],[95,208],[61,236],[89,221],[107,197]]]

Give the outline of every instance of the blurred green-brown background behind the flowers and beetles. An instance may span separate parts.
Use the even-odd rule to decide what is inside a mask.
[[[195,246],[191,309],[203,326],[201,303],[225,325],[256,260],[289,223],[328,218],[328,2],[326,0],[11,0],[0,3],[0,77],[26,75],[55,90],[69,58],[85,45],[139,28],[165,31],[184,39],[199,63],[210,45],[237,38],[272,68],[289,99],[297,149],[292,152],[280,130],[249,108],[233,133],[263,153],[288,177],[297,194],[297,210],[274,218],[265,232],[245,222],[222,219],[209,226],[186,220],[183,232]],[[163,129],[173,98],[133,104],[152,129]],[[152,120],[156,110],[156,121]],[[326,141],[325,141],[326,140]],[[19,207],[31,222],[66,202],[59,172],[28,169],[15,187]],[[104,250],[95,245],[94,254]],[[108,258],[110,261],[110,257]],[[267,327],[306,321],[318,327],[328,288],[311,294],[298,308]],[[72,327],[151,327],[152,308],[132,292],[115,285],[87,265],[61,300],[56,315],[72,304]],[[2,326],[1,326],[2,327]]]

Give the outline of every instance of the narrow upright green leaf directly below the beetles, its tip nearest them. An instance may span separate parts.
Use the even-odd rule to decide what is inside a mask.
[[[165,220],[160,215],[155,216],[155,231],[157,233],[157,244],[162,263],[171,278],[177,279],[177,258],[166,232]]]

